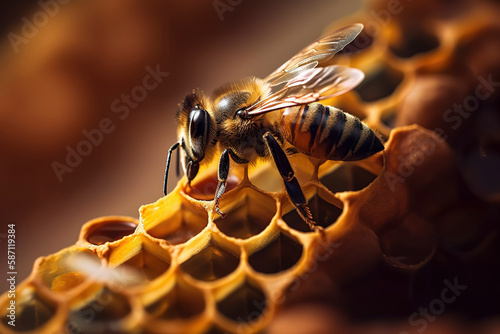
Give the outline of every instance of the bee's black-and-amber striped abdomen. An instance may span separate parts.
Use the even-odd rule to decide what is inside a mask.
[[[359,118],[320,103],[287,108],[281,132],[299,152],[319,159],[361,160],[384,149]]]

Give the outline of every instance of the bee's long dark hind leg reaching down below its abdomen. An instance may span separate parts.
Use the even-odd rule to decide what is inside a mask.
[[[274,162],[276,163],[276,167],[278,167],[278,171],[280,172],[283,181],[285,181],[286,191],[297,208],[297,212],[307,225],[309,225],[311,230],[321,229],[321,227],[316,226],[316,223],[313,220],[311,210],[307,206],[307,200],[304,197],[302,189],[300,188],[299,181],[297,181],[292,166],[290,165],[285,152],[283,152],[281,145],[276,141],[270,132],[266,132],[264,134],[264,140],[266,141],[267,147],[274,158]]]

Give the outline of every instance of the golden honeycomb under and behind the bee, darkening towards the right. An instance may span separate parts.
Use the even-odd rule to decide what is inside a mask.
[[[232,171],[222,219],[213,210],[214,161],[191,186],[183,178],[142,206],[138,220],[94,219],[74,246],[39,258],[17,287],[16,327],[1,296],[0,332],[304,333],[314,317],[293,313],[304,303],[353,319],[408,314],[408,282],[418,291],[429,268],[479,289],[454,311],[476,305],[498,315],[498,299],[484,299],[485,291],[500,296],[492,290],[500,272],[498,92],[473,114],[447,110],[471,100],[481,80],[499,78],[500,7],[429,0],[402,2],[391,14],[389,3],[372,1],[327,28],[365,24],[333,61],[366,79],[325,104],[360,117],[386,142],[359,162],[290,157],[322,232],[299,217],[272,163]]]

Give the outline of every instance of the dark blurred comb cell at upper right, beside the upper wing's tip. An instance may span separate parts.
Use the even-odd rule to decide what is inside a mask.
[[[402,29],[399,33],[402,37],[393,41],[389,47],[400,58],[411,58],[439,47],[439,39],[417,24],[408,24],[399,28]]]

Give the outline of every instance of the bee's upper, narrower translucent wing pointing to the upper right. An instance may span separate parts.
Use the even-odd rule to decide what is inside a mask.
[[[301,72],[330,60],[337,52],[351,43],[361,30],[363,30],[363,25],[357,23],[321,37],[281,65],[264,80],[271,86],[290,81]]]

